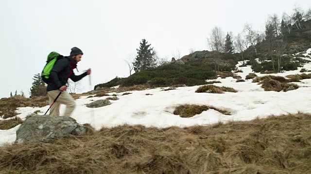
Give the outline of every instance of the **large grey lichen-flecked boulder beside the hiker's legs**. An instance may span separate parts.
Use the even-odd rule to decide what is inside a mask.
[[[16,131],[15,143],[49,142],[54,138],[86,134],[88,128],[70,116],[40,116],[27,118]]]

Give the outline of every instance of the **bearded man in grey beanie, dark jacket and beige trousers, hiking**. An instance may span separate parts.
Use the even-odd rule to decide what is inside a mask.
[[[91,73],[88,69],[85,73],[81,75],[75,75],[73,70],[77,68],[77,63],[81,61],[83,52],[77,48],[71,48],[70,56],[65,56],[55,62],[51,73],[50,79],[46,82],[47,94],[50,101],[50,116],[59,116],[60,104],[66,105],[66,111],[64,116],[70,116],[76,107],[75,100],[71,95],[66,92],[68,79],[70,78],[73,82],[81,80],[83,77]],[[78,70],[78,69],[77,69]],[[57,100],[53,103],[57,95],[62,91]],[[52,104],[53,103],[53,104]],[[52,106],[51,106],[52,104]]]

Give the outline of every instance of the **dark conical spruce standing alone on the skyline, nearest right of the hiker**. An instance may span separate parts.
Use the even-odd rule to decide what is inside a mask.
[[[140,72],[155,66],[154,48],[152,48],[151,44],[148,44],[148,41],[145,39],[142,39],[139,44],[139,48],[136,49],[137,56],[134,62],[135,72]]]

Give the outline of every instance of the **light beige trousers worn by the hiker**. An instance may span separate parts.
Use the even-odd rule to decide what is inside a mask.
[[[60,92],[59,90],[52,90],[47,92],[50,101],[50,106],[57,97],[57,95],[59,94],[59,92]],[[54,104],[52,105],[49,114],[50,116],[60,116],[59,115],[60,104],[66,105],[66,110],[63,116],[70,116],[76,107],[75,100],[71,97],[71,95],[68,92],[63,91],[57,98],[56,102],[54,102]]]

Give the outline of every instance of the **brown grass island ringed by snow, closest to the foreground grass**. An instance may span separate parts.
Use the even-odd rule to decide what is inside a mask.
[[[175,108],[173,114],[180,115],[180,117],[192,117],[197,114],[201,114],[203,111],[207,111],[208,109],[214,109],[224,115],[230,115],[229,111],[225,111],[222,109],[215,108],[213,106],[207,105],[196,105],[196,104],[183,104],[179,105]]]

